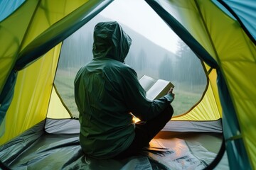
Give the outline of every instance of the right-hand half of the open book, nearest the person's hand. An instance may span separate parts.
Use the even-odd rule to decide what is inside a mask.
[[[159,79],[153,86],[151,86],[149,91],[146,91],[146,98],[149,98],[150,100],[161,98],[167,94],[171,87],[174,87],[174,84],[171,84],[170,81]]]

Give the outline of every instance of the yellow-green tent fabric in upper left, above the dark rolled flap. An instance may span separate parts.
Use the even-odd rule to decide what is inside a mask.
[[[0,36],[3,47],[0,58],[0,91],[16,60],[21,57],[22,50],[38,35],[85,2],[87,1],[26,1],[15,15],[1,22]]]

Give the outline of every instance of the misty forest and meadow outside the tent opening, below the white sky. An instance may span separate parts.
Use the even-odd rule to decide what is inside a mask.
[[[76,33],[63,42],[55,77],[58,93],[70,113],[78,118],[78,110],[74,98],[74,79],[80,67],[92,60],[92,34],[94,26],[100,21],[111,21],[97,15]],[[122,25],[132,38],[132,45],[124,60],[138,74],[138,78],[146,74],[154,79],[166,79],[174,85],[176,98],[172,103],[174,115],[188,112],[201,100],[206,89],[206,74],[201,60],[182,41],[178,40],[176,52],[170,52],[148,40],[135,30]]]

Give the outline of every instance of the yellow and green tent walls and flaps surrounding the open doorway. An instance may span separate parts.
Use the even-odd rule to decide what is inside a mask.
[[[111,2],[0,2],[1,166],[12,167],[28,147],[36,147],[34,141],[38,138],[43,147],[43,137],[55,134],[50,135],[48,142],[65,140],[63,133],[71,137],[58,145],[65,147],[68,143],[65,154],[73,157],[65,167],[71,168],[75,160],[83,163],[70,147],[79,147],[77,138],[71,140],[76,137],[73,134],[78,131],[78,120],[63,105],[53,81],[63,40]],[[146,3],[202,60],[208,77],[201,101],[188,113],[173,118],[170,125],[177,127],[183,123],[184,131],[191,129],[189,123],[199,132],[223,130],[223,149],[215,164],[226,152],[230,169],[255,169],[256,4],[238,0]],[[64,151],[60,149],[59,153]],[[27,165],[15,168],[35,162],[46,168],[52,162],[60,164],[60,159],[46,157],[49,152],[44,157],[33,152],[26,154],[31,155]],[[36,159],[30,162],[32,157]]]

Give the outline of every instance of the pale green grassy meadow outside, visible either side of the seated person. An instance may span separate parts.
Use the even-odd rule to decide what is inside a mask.
[[[74,98],[74,77],[74,75],[61,76],[60,74],[57,74],[57,76],[55,77],[55,85],[65,105],[68,107],[73,116],[75,118],[78,118],[79,113],[75,105]],[[182,86],[186,86],[186,84],[180,85],[178,89],[188,89],[182,88]],[[201,86],[197,89],[202,88],[204,89],[205,87]],[[171,104],[174,107],[174,115],[186,113],[189,109],[191,109],[191,107],[193,107],[194,104],[196,104],[201,99],[202,95],[202,92],[198,93],[198,91],[196,90],[191,92],[181,91],[178,89],[174,89],[175,100]]]

